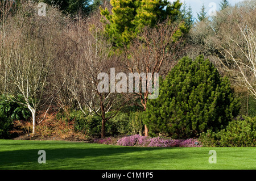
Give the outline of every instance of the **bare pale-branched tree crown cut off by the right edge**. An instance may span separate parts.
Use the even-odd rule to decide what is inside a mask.
[[[255,3],[256,5],[256,3]],[[246,87],[256,99],[256,9],[234,9],[220,26],[217,48],[223,69],[238,86]]]

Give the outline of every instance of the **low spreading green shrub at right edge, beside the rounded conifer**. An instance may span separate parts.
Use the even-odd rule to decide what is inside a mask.
[[[204,146],[256,146],[256,117],[241,117],[230,121],[220,132],[202,133]]]

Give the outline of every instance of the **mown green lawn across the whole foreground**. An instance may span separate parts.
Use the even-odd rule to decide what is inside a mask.
[[[46,164],[38,151],[46,151]],[[209,150],[217,163],[210,164]],[[67,141],[0,140],[0,169],[256,169],[256,148],[138,148]]]

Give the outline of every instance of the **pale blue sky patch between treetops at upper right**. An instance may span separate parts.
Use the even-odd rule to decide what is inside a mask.
[[[176,0],[170,0],[171,2],[174,2]],[[228,2],[230,5],[234,6],[236,3],[241,2],[243,0],[229,0]],[[193,18],[197,19],[197,12],[199,13],[201,11],[201,8],[204,6],[207,8],[206,12],[207,15],[210,14],[210,10],[216,7],[217,11],[220,10],[220,2],[221,0],[180,0],[182,3],[186,3],[187,6],[191,5],[191,8],[193,10]],[[210,6],[210,7],[209,7]]]

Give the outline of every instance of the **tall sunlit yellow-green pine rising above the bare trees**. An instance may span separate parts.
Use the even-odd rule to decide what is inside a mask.
[[[167,0],[111,0],[110,4],[112,12],[101,9],[101,15],[105,16],[105,33],[116,47],[129,45],[144,26],[154,27],[167,18],[177,20],[181,7],[179,0],[174,3]]]

